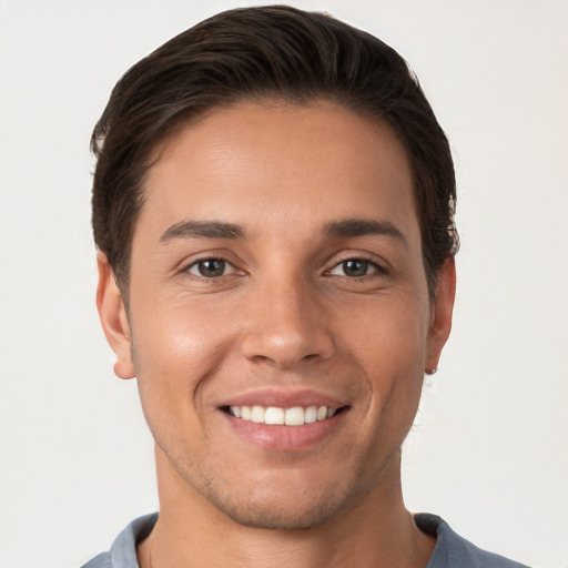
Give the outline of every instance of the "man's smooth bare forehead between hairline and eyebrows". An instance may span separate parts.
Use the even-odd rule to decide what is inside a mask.
[[[323,101],[215,109],[159,148],[143,191],[135,235],[142,226],[155,237],[183,217],[297,232],[387,215],[417,229],[410,166],[392,128]]]

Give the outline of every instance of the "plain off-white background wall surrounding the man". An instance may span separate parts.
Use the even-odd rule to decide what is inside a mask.
[[[293,1],[417,72],[457,165],[453,336],[405,444],[412,510],[568,567],[568,2]],[[89,136],[128,67],[246,2],[0,0],[0,567],[79,566],[156,508],[94,307]]]

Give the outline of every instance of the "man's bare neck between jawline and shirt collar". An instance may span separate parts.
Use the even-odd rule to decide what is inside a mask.
[[[361,503],[301,530],[242,526],[189,488],[160,452],[156,458],[160,518],[139,545],[141,568],[422,568],[434,550],[435,540],[420,532],[404,507],[399,455]]]

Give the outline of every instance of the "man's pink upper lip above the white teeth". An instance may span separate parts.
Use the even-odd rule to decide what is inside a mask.
[[[283,389],[283,388],[262,388],[234,395],[224,400],[220,407],[224,406],[274,406],[277,408],[292,408],[294,406],[327,406],[341,408],[347,406],[344,400],[322,392],[303,389]]]

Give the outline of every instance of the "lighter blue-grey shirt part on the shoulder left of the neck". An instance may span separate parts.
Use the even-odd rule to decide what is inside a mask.
[[[150,535],[158,520],[158,513],[133,520],[116,537],[110,551],[102,552],[81,568],[139,568],[136,544]]]

